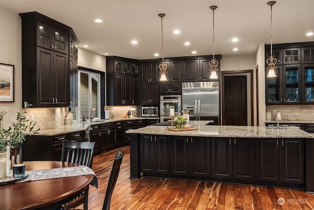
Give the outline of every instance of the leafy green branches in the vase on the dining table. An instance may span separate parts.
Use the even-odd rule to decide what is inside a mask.
[[[38,133],[37,130],[34,130],[34,126],[36,125],[36,121],[32,122],[29,120],[26,120],[25,114],[26,108],[29,108],[29,106],[32,106],[31,104],[28,104],[26,101],[24,102],[24,110],[21,113],[17,113],[16,122],[12,123],[11,126],[9,126],[8,129],[4,129],[2,125],[3,116],[6,114],[6,112],[1,111],[0,112],[0,152],[5,152],[6,147],[9,146],[10,148],[13,148],[17,146],[20,143],[23,143],[25,141],[26,134],[35,134]],[[29,121],[29,123],[28,123]]]

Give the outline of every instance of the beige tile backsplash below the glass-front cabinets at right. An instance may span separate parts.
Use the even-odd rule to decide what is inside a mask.
[[[314,105],[266,105],[266,111],[273,110],[287,115],[288,120],[312,120],[314,121]]]

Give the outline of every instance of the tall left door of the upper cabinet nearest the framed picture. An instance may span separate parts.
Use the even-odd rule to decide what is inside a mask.
[[[37,105],[52,106],[52,98],[54,98],[53,52],[37,47]]]

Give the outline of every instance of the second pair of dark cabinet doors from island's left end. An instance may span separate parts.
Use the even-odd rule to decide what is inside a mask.
[[[173,136],[171,175],[210,177],[210,141],[206,137]]]

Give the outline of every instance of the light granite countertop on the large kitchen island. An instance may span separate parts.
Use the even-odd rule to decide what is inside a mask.
[[[167,130],[166,126],[149,125],[126,132],[152,135],[234,138],[314,138],[314,135],[294,126],[285,129],[270,129],[265,126],[205,125],[207,123],[208,121],[190,121],[189,125],[197,125],[200,128],[199,130],[171,131]]]

